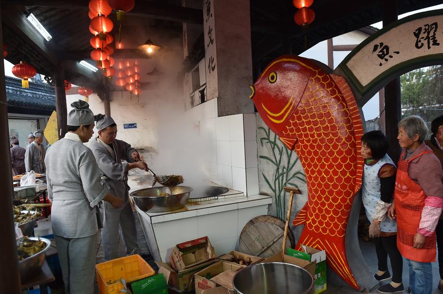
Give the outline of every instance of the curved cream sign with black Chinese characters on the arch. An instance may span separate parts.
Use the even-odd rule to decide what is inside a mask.
[[[363,41],[339,65],[360,96],[413,68],[443,61],[443,10],[411,15]]]

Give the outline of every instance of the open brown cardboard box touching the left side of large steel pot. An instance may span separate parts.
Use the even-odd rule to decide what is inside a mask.
[[[227,288],[232,289],[232,279],[234,278],[233,275],[226,275],[224,278],[218,279],[218,283],[215,282],[214,278],[227,271],[235,272],[241,268],[243,267],[237,265],[236,263],[222,260],[196,272],[194,274],[195,294],[202,294],[203,290],[213,289],[219,285],[227,286]]]

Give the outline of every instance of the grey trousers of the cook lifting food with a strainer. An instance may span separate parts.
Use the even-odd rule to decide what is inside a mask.
[[[125,242],[126,254],[139,253],[135,218],[129,201],[122,210],[106,211],[102,205],[101,214],[103,217],[101,242],[105,260],[120,257],[119,234]]]

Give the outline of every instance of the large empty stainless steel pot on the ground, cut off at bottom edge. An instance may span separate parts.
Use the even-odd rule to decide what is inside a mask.
[[[262,263],[240,269],[233,286],[236,294],[311,294],[314,278],[302,267]]]

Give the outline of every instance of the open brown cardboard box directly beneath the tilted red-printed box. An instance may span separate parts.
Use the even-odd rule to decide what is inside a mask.
[[[171,267],[171,263],[162,263],[157,262],[158,273],[162,273],[164,275],[164,279],[168,285],[176,288],[179,291],[188,290],[191,291],[194,289],[194,283],[192,283],[192,277],[194,273],[199,270],[202,270],[205,267],[210,266],[215,263],[215,260],[207,261],[206,263],[196,265],[195,267],[190,267],[185,270],[176,271]]]

